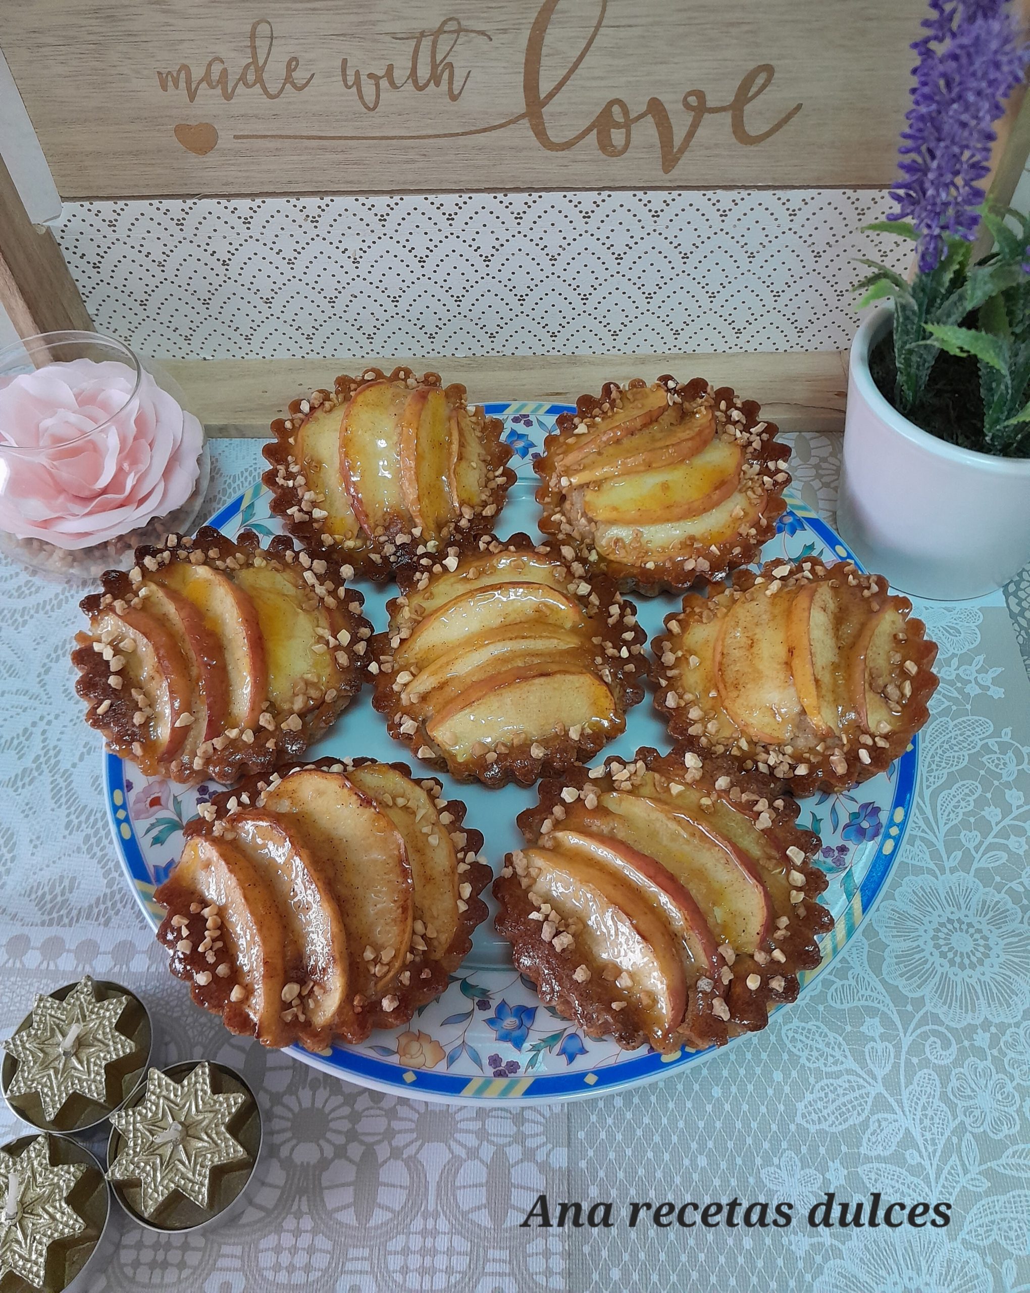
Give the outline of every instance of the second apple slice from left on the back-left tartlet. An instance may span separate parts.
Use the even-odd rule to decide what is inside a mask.
[[[411,513],[401,489],[401,419],[407,389],[394,381],[370,381],[348,401],[340,424],[340,472],[350,506],[368,534]]]

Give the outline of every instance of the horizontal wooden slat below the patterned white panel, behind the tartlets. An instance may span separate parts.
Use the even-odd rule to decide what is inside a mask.
[[[574,402],[604,381],[654,380],[663,372],[706,376],[757,400],[784,431],[836,431],[844,425],[846,354],[837,350],[779,354],[560,356],[544,358],[377,358],[377,359],[163,359],[186,402],[212,434],[264,436],[291,400],[332,387],[340,372],[398,363],[464,381],[469,398]]]

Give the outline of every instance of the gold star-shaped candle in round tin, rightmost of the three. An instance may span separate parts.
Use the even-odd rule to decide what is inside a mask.
[[[261,1149],[253,1093],[212,1060],[151,1068],[111,1124],[107,1179],[133,1221],[150,1230],[225,1221]]]

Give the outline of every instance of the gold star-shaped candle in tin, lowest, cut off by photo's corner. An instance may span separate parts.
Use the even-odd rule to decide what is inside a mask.
[[[0,1288],[85,1293],[106,1261],[109,1212],[103,1169],[83,1146],[45,1131],[0,1146]]]

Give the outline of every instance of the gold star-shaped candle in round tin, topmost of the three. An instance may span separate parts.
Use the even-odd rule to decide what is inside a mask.
[[[0,1084],[19,1118],[63,1135],[87,1131],[121,1106],[146,1072],[150,1015],[128,988],[87,976],[36,997],[14,1034]]]

